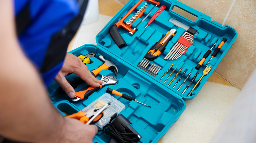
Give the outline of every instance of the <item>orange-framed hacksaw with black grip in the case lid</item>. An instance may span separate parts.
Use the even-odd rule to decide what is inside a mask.
[[[113,37],[114,41],[116,42],[119,48],[122,48],[126,45],[125,41],[121,37],[120,33],[118,32],[117,28],[123,27],[125,30],[129,31],[131,35],[134,34],[135,30],[131,29],[128,25],[124,24],[124,20],[139,6],[142,1],[148,1],[154,5],[159,6],[160,2],[154,0],[139,0],[125,15],[122,19],[120,19],[116,24],[112,25],[109,29],[111,36]],[[140,14],[140,16],[142,13]]]

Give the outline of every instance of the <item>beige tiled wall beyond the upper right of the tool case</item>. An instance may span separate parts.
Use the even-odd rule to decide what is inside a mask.
[[[125,4],[128,0],[116,0]],[[171,1],[171,0],[170,0]],[[238,88],[243,88],[256,67],[255,0],[178,0],[236,29],[238,37],[216,68],[216,72]]]

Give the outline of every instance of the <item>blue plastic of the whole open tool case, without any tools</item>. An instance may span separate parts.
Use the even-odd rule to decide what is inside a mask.
[[[60,112],[65,111],[69,114],[75,113],[88,106],[101,95],[106,93],[107,87],[130,95],[136,98],[139,102],[152,106],[152,108],[149,108],[134,101],[130,102],[117,95],[113,95],[125,105],[124,110],[120,114],[131,121],[133,128],[142,136],[139,142],[151,143],[157,142],[167,132],[170,126],[181,116],[181,113],[186,108],[184,100],[192,100],[198,94],[204,83],[207,81],[211,73],[220,63],[226,52],[237,38],[237,33],[232,27],[228,25],[222,26],[215,21],[211,21],[211,17],[184,5],[177,0],[159,0],[158,2],[160,2],[160,6],[165,5],[167,8],[162,11],[156,20],[145,29],[144,27],[160,6],[154,8],[155,5],[151,4],[150,2],[143,1],[133,11],[131,16],[128,17],[131,18],[132,15],[135,14],[145,3],[148,4],[144,14],[141,18],[138,18],[133,23],[132,28],[136,27],[152,8],[154,9],[145,19],[145,21],[139,24],[137,28],[138,30],[133,35],[130,35],[129,32],[123,28],[118,28],[119,33],[127,44],[125,47],[119,48],[111,37],[109,28],[119,21],[137,2],[138,0],[130,0],[111,19],[111,21],[96,36],[97,45],[85,44],[71,51],[71,53],[73,53],[75,56],[96,52],[96,56],[91,58],[91,63],[86,65],[90,71],[103,64],[102,61],[97,59],[98,56],[103,55],[105,59],[111,60],[117,65],[118,68],[117,84],[102,87],[90,95],[88,99],[78,102],[72,102],[67,95],[60,95],[56,90],[59,85],[55,82],[48,87],[48,91],[56,108]],[[196,21],[192,21],[184,16],[181,16],[172,10],[174,6],[197,16],[198,19]],[[176,60],[164,60],[163,57],[185,32],[183,28],[177,27],[172,22],[168,21],[171,17],[182,22],[183,24],[193,27],[197,30],[197,34],[194,35],[194,45],[191,45],[188,48],[185,55],[182,55]],[[125,20],[124,23],[128,20],[129,19]],[[165,51],[158,58],[152,61],[162,67],[159,73],[153,77],[146,71],[138,68],[137,65],[144,58],[145,54],[150,50],[150,48],[160,40],[162,35],[171,29],[177,30],[175,36],[171,41],[169,41]],[[192,95],[187,97],[187,94],[202,76],[203,67],[209,61],[210,56],[208,56],[208,58],[205,60],[200,70],[196,70],[195,66],[203,58],[203,55],[209,48],[211,48],[215,41],[218,40],[216,46],[212,49],[213,51],[217,48],[217,45],[220,44],[220,41],[223,38],[226,38],[227,41],[222,46],[218,55],[210,61],[209,65],[211,65],[211,70],[203,77],[199,85],[192,92]],[[174,66],[164,76],[163,80],[160,81],[160,78],[171,64],[174,64]],[[176,71],[174,71],[166,83],[163,83],[175,67],[177,67]],[[180,68],[183,68],[182,71],[177,75],[172,84],[168,86],[168,83],[172,80]],[[187,70],[187,72],[181,78],[181,81],[175,88],[172,88],[185,70]],[[197,72],[200,73],[196,77],[195,81],[184,94],[181,94]],[[177,88],[181,85],[189,73],[191,73],[191,76],[181,87],[181,89],[177,91]],[[100,71],[96,78],[101,79],[102,75],[109,76],[114,75],[114,73],[110,70],[103,70]],[[72,81],[76,77],[77,75],[75,74],[66,76],[68,81]],[[86,86],[86,83],[81,84],[75,88],[75,91],[79,91]],[[65,115],[63,112],[61,113]],[[106,135],[103,132],[98,132],[93,141],[108,142],[109,139],[109,135]]]

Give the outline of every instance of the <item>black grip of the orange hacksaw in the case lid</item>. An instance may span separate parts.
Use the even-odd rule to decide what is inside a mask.
[[[120,35],[120,33],[117,30],[116,24],[112,25],[109,28],[109,32],[119,48],[122,48],[126,45],[125,41],[123,40],[122,36]]]

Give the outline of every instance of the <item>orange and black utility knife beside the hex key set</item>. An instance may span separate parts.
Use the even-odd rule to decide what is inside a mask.
[[[166,45],[168,42],[174,37],[174,33],[176,32],[175,29],[171,29],[163,37],[157,42],[146,54],[145,58],[148,60],[156,59],[163,51],[165,50]]]

